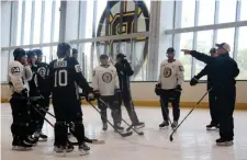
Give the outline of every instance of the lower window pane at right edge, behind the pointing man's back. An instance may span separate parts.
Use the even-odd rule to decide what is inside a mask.
[[[238,37],[238,49],[237,49],[237,65],[240,70],[237,79],[247,80],[247,26],[243,26],[239,28],[239,37]]]

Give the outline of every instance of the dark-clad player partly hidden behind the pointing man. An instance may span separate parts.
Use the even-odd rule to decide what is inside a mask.
[[[215,48],[210,49],[210,54],[212,57],[217,56],[217,52]],[[207,76],[207,90],[212,88],[212,65],[206,65],[197,76],[194,76],[191,81],[190,85],[197,85],[198,81],[203,77]],[[210,100],[210,114],[211,114],[211,123],[206,125],[206,130],[212,130],[218,128],[218,113],[216,107],[216,96],[214,93],[214,89],[209,92],[209,100]]]

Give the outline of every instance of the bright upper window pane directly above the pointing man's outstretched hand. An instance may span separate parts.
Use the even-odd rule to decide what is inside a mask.
[[[182,1],[181,27],[194,26],[194,11],[195,0]]]

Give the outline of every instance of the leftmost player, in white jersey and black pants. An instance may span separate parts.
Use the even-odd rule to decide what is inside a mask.
[[[32,78],[32,71],[26,61],[26,53],[22,48],[13,52],[14,61],[9,66],[9,81],[12,90],[10,105],[12,110],[13,123],[11,132],[13,135],[12,149],[32,149],[27,135],[30,130],[30,113],[27,106],[29,85],[27,80]]]

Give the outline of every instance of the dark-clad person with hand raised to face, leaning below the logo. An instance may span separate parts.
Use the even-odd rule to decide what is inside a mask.
[[[144,123],[138,121],[138,117],[135,112],[134,104],[132,102],[131,87],[130,87],[130,77],[134,75],[134,71],[131,68],[130,62],[125,59],[125,55],[117,54],[115,64],[116,72],[120,81],[120,89],[122,94],[122,101],[127,110],[128,116],[132,121],[132,125],[135,128],[142,128],[145,126]],[[121,101],[121,103],[122,103]],[[119,115],[122,115],[121,110]]]

